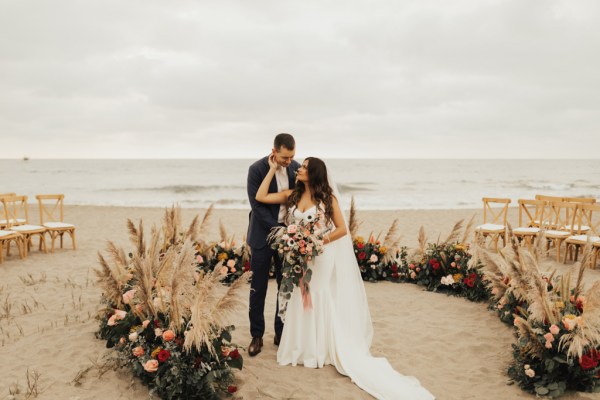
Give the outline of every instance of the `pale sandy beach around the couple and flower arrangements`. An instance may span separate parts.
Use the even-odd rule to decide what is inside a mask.
[[[184,225],[205,210],[182,209]],[[128,218],[144,221],[147,230],[159,225],[164,209],[143,207],[65,206],[65,221],[77,227],[77,250],[69,238],[65,248],[53,254],[32,249],[21,260],[12,248],[0,264],[0,399],[25,398],[27,371],[39,374],[38,398],[42,399],[146,399],[148,390],[126,370],[102,368],[103,356],[111,350],[94,336],[95,319],[101,308],[101,291],[95,285],[97,253],[107,240],[126,250],[131,246],[125,226]],[[29,210],[32,223],[38,211]],[[401,244],[417,245],[424,227],[429,241],[444,240],[460,219],[481,209],[361,211],[359,234],[367,237],[387,232],[398,219]],[[518,223],[515,207],[509,221]],[[248,210],[216,209],[207,240],[217,240],[219,221],[241,242],[248,223]],[[37,244],[37,240],[35,241]],[[49,243],[49,241],[48,241]],[[565,272],[571,263],[551,263]],[[586,286],[600,279],[600,269],[586,273]],[[511,360],[513,329],[503,324],[485,303],[472,303],[439,293],[423,291],[411,284],[365,283],[375,335],[371,351],[383,356],[404,375],[417,377],[440,400],[533,399],[516,385],[507,385],[505,369]],[[249,290],[249,287],[248,287]],[[276,363],[273,345],[275,283],[267,294],[265,346],[256,357],[244,356],[244,368],[236,372],[238,399],[371,399],[334,367],[321,370]],[[245,307],[235,314],[233,341],[250,343]],[[598,395],[569,393],[563,399],[597,399]]]

